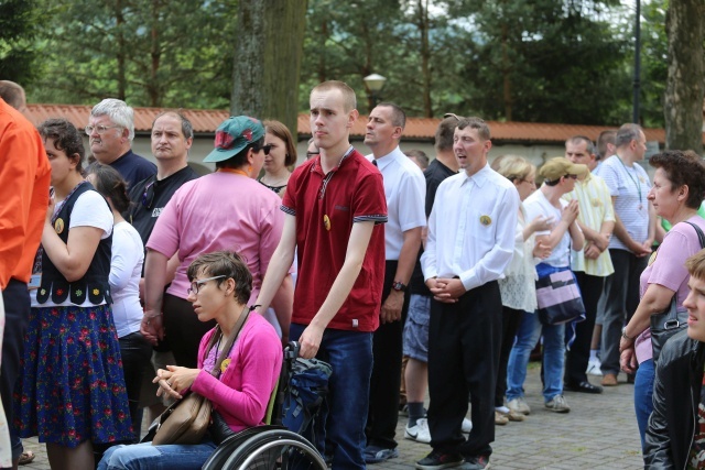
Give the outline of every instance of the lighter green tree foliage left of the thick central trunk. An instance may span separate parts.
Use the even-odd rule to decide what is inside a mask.
[[[35,100],[223,108],[234,1],[41,0],[52,28]]]

